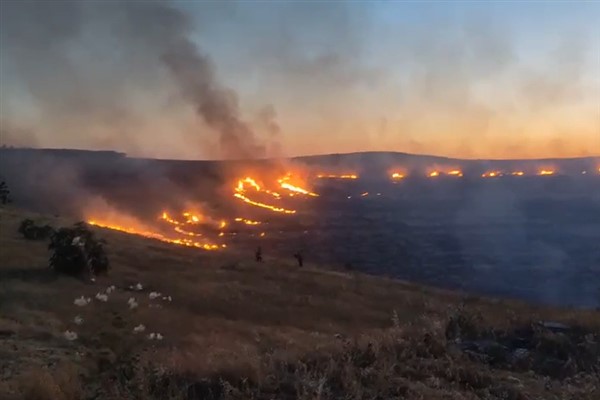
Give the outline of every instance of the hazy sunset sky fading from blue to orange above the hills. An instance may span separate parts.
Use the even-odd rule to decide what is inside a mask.
[[[120,4],[2,1],[2,143],[600,155],[600,2]]]

